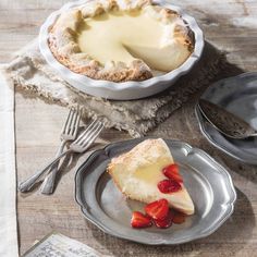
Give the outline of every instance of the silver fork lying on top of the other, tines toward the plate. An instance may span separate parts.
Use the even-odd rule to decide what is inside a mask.
[[[57,158],[54,158],[47,167],[45,167],[42,170],[38,171],[30,178],[28,178],[26,181],[22,182],[19,185],[19,189],[23,193],[28,192],[33,185],[36,183],[36,181],[57,161],[59,161],[63,156],[70,152],[84,152],[90,145],[91,143],[97,138],[97,136],[100,134],[100,132],[103,128],[103,124],[95,120],[94,122],[90,123],[90,125],[87,127],[86,131],[84,131],[76,140],[74,140],[71,145],[70,148],[62,154],[60,154]]]

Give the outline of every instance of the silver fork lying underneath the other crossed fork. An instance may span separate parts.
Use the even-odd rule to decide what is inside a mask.
[[[71,108],[66,121],[61,131],[61,145],[56,156],[59,156],[61,152],[63,152],[64,146],[69,140],[74,140],[76,138],[79,121],[81,110]],[[58,164],[59,161],[51,167],[49,174],[45,178],[40,188],[42,194],[52,194],[54,188],[56,176],[58,173]]]

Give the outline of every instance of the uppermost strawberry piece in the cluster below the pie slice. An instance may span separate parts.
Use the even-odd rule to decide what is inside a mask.
[[[159,199],[145,207],[148,216],[156,220],[163,220],[169,213],[169,203],[167,199]]]

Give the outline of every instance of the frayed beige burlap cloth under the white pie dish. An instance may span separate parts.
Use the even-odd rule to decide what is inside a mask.
[[[22,91],[29,91],[49,103],[79,105],[83,118],[101,117],[107,127],[127,131],[133,137],[145,135],[180,108],[201,87],[210,84],[222,72],[225,63],[222,52],[206,42],[203,56],[192,71],[175,86],[145,99],[115,101],[86,95],[70,87],[45,61],[35,39],[16,53],[5,73]]]

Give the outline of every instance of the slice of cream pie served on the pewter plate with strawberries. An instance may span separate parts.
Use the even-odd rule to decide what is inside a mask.
[[[174,182],[163,173],[163,169],[173,163],[170,149],[162,139],[146,139],[128,152],[113,158],[107,171],[119,189],[128,198],[147,204],[164,198],[171,208],[193,215],[194,204],[183,180]],[[178,174],[174,175],[176,176]],[[159,185],[163,181],[179,184],[179,189],[176,186],[174,192],[162,193]]]

